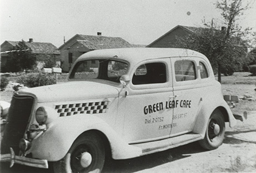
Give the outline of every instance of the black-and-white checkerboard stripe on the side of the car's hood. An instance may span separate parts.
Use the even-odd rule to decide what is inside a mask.
[[[79,113],[106,113],[109,101],[59,104],[55,106],[60,117],[72,116]]]

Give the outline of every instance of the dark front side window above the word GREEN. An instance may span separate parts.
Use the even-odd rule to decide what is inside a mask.
[[[134,72],[133,85],[166,82],[166,67],[162,62],[140,65]]]

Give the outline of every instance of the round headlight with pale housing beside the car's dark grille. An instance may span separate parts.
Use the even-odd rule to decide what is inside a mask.
[[[51,107],[42,106],[36,111],[36,120],[39,125],[49,124],[58,117],[58,113]]]

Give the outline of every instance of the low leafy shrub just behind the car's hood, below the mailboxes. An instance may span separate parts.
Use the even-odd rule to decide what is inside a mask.
[[[42,74],[39,73],[31,73],[28,75],[22,75],[17,79],[18,83],[22,83],[24,86],[27,87],[38,87],[44,85],[52,85],[56,83],[55,77],[49,74]]]

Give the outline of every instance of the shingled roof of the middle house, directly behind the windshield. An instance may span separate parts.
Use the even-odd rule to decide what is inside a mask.
[[[101,36],[101,35],[77,34],[73,36],[71,39],[69,39],[66,43],[74,39],[76,36],[79,36],[79,39],[77,40],[78,43],[86,46],[90,50],[133,47],[130,43],[128,43],[128,41],[120,37]],[[59,49],[61,49],[63,46],[64,44],[61,47],[59,47]]]

